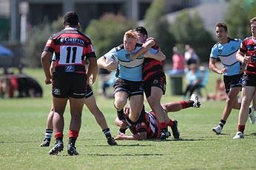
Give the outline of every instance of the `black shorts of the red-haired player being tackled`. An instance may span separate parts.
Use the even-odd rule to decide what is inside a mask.
[[[127,79],[118,78],[114,84],[115,92],[125,91],[128,96],[143,95],[142,82],[132,82]]]

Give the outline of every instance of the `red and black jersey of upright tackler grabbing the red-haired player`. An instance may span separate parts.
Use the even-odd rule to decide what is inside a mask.
[[[147,40],[152,40],[153,38],[148,38]],[[153,39],[154,40],[154,39]],[[160,50],[158,44],[155,42],[155,45],[152,46],[152,49]],[[159,72],[163,71],[163,63],[152,58],[145,58],[144,65],[142,69],[142,78],[143,81],[150,79],[151,77],[158,75]]]

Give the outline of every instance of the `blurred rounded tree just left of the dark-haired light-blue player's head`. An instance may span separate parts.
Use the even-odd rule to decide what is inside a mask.
[[[178,43],[192,46],[202,61],[209,60],[209,52],[215,41],[204,28],[198,12],[189,14],[189,10],[182,10],[171,25],[171,32]]]

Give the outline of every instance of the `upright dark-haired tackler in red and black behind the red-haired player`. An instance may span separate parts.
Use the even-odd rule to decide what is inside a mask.
[[[143,43],[142,48],[131,59],[135,59],[138,55],[143,54],[149,48],[153,48],[160,51],[158,44],[154,38],[148,38],[146,29],[143,26],[138,26],[135,31],[138,34],[138,43]],[[169,133],[167,130],[168,122],[164,121],[165,114],[161,107],[161,97],[166,91],[166,77],[163,69],[163,61],[155,60],[151,58],[144,59],[143,65],[143,85],[146,99],[149,102],[149,106],[158,118],[159,129],[161,130],[161,139],[168,138]]]

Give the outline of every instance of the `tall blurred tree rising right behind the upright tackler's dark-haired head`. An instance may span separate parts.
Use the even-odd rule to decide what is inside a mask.
[[[169,24],[164,14],[164,1],[155,0],[150,5],[149,9],[146,10],[144,23],[149,36],[155,38],[166,56],[171,56],[171,49],[175,46],[176,40],[169,32]]]

